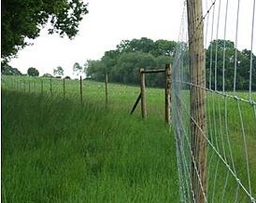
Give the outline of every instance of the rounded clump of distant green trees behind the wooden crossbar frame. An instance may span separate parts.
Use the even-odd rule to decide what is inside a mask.
[[[177,42],[149,38],[122,40],[115,50],[106,51],[100,61],[88,61],[87,75],[98,81],[108,73],[109,81],[136,84],[139,68],[163,68],[172,61]],[[164,86],[164,74],[147,76],[149,86]]]

